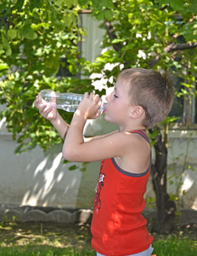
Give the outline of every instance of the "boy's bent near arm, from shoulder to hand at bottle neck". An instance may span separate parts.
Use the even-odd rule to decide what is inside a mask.
[[[84,141],[83,129],[88,118],[95,118],[99,108],[98,96],[84,96],[77,108],[65,137],[63,156],[70,161],[95,161],[121,156],[127,150],[127,135],[113,131],[109,135]]]

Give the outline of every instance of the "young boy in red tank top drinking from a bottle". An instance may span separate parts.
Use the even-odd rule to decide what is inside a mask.
[[[144,193],[149,178],[151,154],[145,129],[166,118],[174,92],[165,75],[143,68],[120,73],[114,91],[106,96],[104,119],[118,131],[84,139],[87,119],[98,118],[102,101],[85,93],[71,124],[55,108],[35,105],[64,139],[63,156],[70,161],[102,160],[93,206],[92,247],[97,255],[149,256],[153,237],[146,229]]]

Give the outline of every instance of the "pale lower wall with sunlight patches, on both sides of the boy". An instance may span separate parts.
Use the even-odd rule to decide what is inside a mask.
[[[63,164],[62,145],[53,146],[47,152],[35,148],[20,155],[14,154],[16,143],[12,135],[0,125],[0,204],[39,207],[89,208],[93,207],[93,198],[98,180],[99,162],[85,165],[86,172],[81,172],[82,163]],[[115,125],[106,123],[101,117],[90,121],[86,135],[92,136],[112,131]],[[189,152],[186,159],[186,170],[183,172],[189,133],[192,132]],[[181,207],[197,210],[197,132],[170,131],[168,177],[177,174],[182,177],[180,186]],[[70,171],[69,167],[78,168]],[[189,169],[193,166],[195,171]],[[173,183],[172,183],[173,182]],[[168,192],[175,193],[177,179],[168,180]],[[185,195],[183,195],[185,190]],[[146,197],[155,197],[151,177]]]

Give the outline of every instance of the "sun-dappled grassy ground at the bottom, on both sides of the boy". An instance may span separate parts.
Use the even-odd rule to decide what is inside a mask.
[[[95,256],[89,225],[57,223],[0,224],[1,256]],[[156,256],[196,256],[197,225],[156,235]]]

